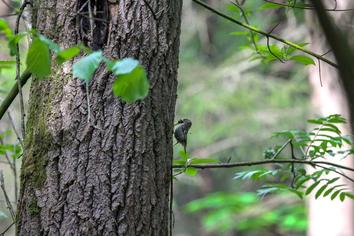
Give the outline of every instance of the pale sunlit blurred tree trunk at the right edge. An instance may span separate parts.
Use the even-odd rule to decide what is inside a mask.
[[[330,2],[330,3],[329,3]],[[338,9],[350,8],[353,4],[349,4],[349,1],[337,1]],[[326,1],[327,8],[333,8],[333,1]],[[329,3],[329,4],[328,4]],[[324,54],[329,51],[331,48],[326,42],[325,36],[316,20],[314,20],[314,11],[308,12],[308,24],[312,25],[312,35],[310,41],[312,42],[310,50],[319,54]],[[348,18],[342,14],[347,14],[348,12],[341,13],[335,12],[331,16],[340,24],[349,23]],[[349,14],[350,15],[350,14]],[[343,17],[340,21],[339,18]],[[347,21],[346,21],[347,20]],[[315,23],[312,23],[314,22]],[[333,54],[328,53],[325,56],[331,61],[335,62]],[[343,84],[339,78],[338,70],[324,62],[321,62],[321,79],[322,85],[320,84],[319,77],[319,67],[318,62],[316,62],[316,67],[310,67],[309,71],[309,80],[313,85],[313,93],[311,96],[313,112],[310,113],[311,119],[314,119],[313,116],[328,116],[331,114],[341,114],[343,118],[348,119],[348,124],[338,124],[338,128],[341,130],[343,135],[352,134],[352,128],[350,126],[350,111],[348,105],[348,99],[346,92],[343,89]],[[342,149],[350,148],[348,145],[345,145]],[[327,161],[338,163],[340,165],[353,167],[354,161],[353,156],[348,156],[346,159],[343,159],[339,162],[341,157],[329,157]],[[313,168],[309,168],[313,171]],[[349,177],[353,178],[353,173],[348,173]],[[330,173],[329,175],[322,176],[323,178],[332,179],[338,177],[338,174]],[[353,186],[353,183],[349,180],[341,177],[334,185],[339,184],[349,184]],[[334,186],[333,185],[333,186]],[[317,188],[318,189],[318,188]],[[353,236],[354,235],[354,201],[350,198],[346,198],[344,202],[339,200],[339,197],[336,197],[335,200],[331,201],[330,196],[322,197],[320,196],[315,200],[316,189],[312,191],[312,194],[308,197],[308,208],[309,208],[309,236]]]

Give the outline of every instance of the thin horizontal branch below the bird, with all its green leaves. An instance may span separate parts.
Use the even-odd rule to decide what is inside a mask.
[[[215,162],[217,160],[213,159],[188,159],[188,153],[184,154],[183,151],[180,152],[183,160],[175,160],[173,161],[172,167],[175,168],[173,172],[177,174],[186,173],[191,176],[195,175],[196,170],[205,169],[205,168],[232,168],[239,166],[256,166],[263,165],[267,163],[275,163],[280,168],[275,170],[268,169],[256,169],[251,171],[245,171],[241,173],[236,173],[236,178],[242,179],[252,179],[259,180],[260,178],[266,179],[267,175],[275,177],[277,174],[281,175],[280,181],[283,182],[287,178],[290,178],[290,184],[265,184],[263,185],[263,189],[258,190],[260,195],[265,195],[268,192],[281,192],[281,191],[290,191],[298,195],[299,197],[303,197],[303,195],[308,195],[317,185],[322,185],[321,188],[316,192],[315,198],[323,194],[323,196],[329,195],[332,191],[331,199],[333,200],[337,195],[341,201],[344,200],[345,197],[353,198],[354,193],[349,191],[350,187],[346,185],[335,185],[331,186],[334,182],[336,182],[340,177],[327,179],[321,178],[322,174],[329,174],[330,172],[334,172],[342,177],[350,180],[354,183],[354,179],[350,178],[346,173],[342,170],[348,170],[354,172],[354,168],[339,165],[337,163],[333,163],[331,161],[317,161],[316,159],[320,157],[335,157],[338,154],[344,155],[342,159],[346,158],[350,154],[354,154],[354,143],[353,140],[349,136],[342,136],[339,131],[336,123],[346,123],[346,120],[341,117],[341,115],[330,115],[327,117],[323,117],[317,120],[308,120],[309,123],[313,123],[316,125],[320,125],[320,127],[316,127],[311,129],[308,132],[304,132],[298,129],[290,129],[286,131],[280,131],[273,133],[273,137],[279,136],[287,136],[290,138],[283,145],[276,146],[274,149],[270,148],[263,153],[265,159],[262,161],[252,161],[252,162],[238,162],[238,163],[217,163],[217,164],[200,164],[205,162]],[[324,133],[325,132],[325,133]],[[341,148],[344,143],[352,145],[352,148],[348,150],[341,151],[333,151],[333,148]],[[291,157],[290,159],[280,158],[280,154],[284,151],[285,147],[290,144],[291,145]],[[295,157],[294,147],[298,147],[302,156],[299,158]],[[303,148],[306,148],[304,151]],[[287,165],[283,165],[287,164]],[[320,170],[316,170],[315,172],[308,174],[305,169],[301,168],[304,164],[310,165],[312,167],[320,168]],[[296,166],[295,166],[296,165]],[[323,166],[326,165],[326,166]],[[176,175],[177,175],[176,174]],[[307,187],[306,183],[314,181],[309,187]],[[343,187],[346,186],[346,187]],[[343,188],[342,188],[343,187]],[[325,191],[327,189],[327,191]],[[305,191],[305,193],[303,192]],[[325,191],[325,192],[324,192]]]

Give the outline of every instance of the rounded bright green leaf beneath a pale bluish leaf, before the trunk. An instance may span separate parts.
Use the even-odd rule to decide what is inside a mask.
[[[113,93],[124,102],[134,102],[148,95],[150,88],[145,70],[136,67],[129,74],[118,75],[113,84]]]

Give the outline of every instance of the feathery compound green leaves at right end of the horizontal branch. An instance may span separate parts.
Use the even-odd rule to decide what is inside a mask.
[[[313,128],[308,132],[298,129],[289,129],[275,132],[272,137],[286,136],[290,138],[293,141],[291,145],[294,148],[301,149],[302,151],[303,156],[299,158],[300,160],[313,161],[319,157],[334,158],[338,154],[343,155],[343,159],[354,153],[353,147],[342,151],[334,150],[334,148],[337,147],[341,148],[344,143],[353,145],[353,140],[349,136],[342,136],[336,126],[337,123],[346,123],[346,120],[342,118],[341,115],[330,115],[317,120],[308,120],[308,122],[319,125],[319,127]],[[264,152],[264,157],[268,159],[273,158],[275,155],[275,150],[279,150],[280,147],[281,145],[276,146],[275,149],[268,149]],[[291,159],[294,158],[296,159],[292,151]],[[328,175],[330,172],[336,172],[341,174],[343,177],[347,177],[338,167],[322,167],[320,165],[312,165],[316,171],[308,174],[306,173],[306,170],[302,168],[303,164],[301,163],[289,163],[289,165],[286,166],[281,163],[277,163],[277,165],[279,168],[275,170],[256,169],[236,173],[234,179],[241,178],[242,180],[259,180],[261,178],[266,179],[267,176],[279,176],[280,182],[284,182],[264,184],[262,189],[257,190],[258,194],[261,196],[268,193],[290,191],[300,198],[303,198],[304,195],[310,194],[317,186],[319,186],[315,193],[316,199],[320,196],[326,197],[329,195],[331,196],[331,200],[337,196],[339,196],[341,201],[344,201],[345,197],[354,199],[354,194],[350,191],[352,188],[345,184],[333,186],[333,183],[335,183],[340,177],[332,179],[322,177],[323,175]],[[286,179],[289,179],[290,181],[288,182],[290,183],[286,183]]]

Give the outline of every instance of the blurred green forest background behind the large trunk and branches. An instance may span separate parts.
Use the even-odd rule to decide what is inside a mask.
[[[240,11],[228,1],[205,2],[243,21]],[[261,0],[246,0],[242,8],[251,25],[271,30],[284,15],[285,8],[258,11],[263,4],[265,2]],[[6,13],[5,8],[1,5],[1,14]],[[15,18],[6,17],[10,27]],[[22,24],[19,31],[24,31]],[[221,162],[227,162],[229,157],[230,162],[262,160],[264,150],[284,143],[279,138],[270,139],[272,132],[290,128],[305,130],[311,93],[307,68],[295,61],[286,64],[276,60],[269,64],[261,64],[259,60],[249,62],[254,56],[251,50],[239,47],[251,45],[251,42],[245,35],[230,35],[234,31],[246,30],[190,0],[183,1],[175,121],[188,118],[193,122],[187,146],[190,158],[213,158]],[[273,33],[298,44],[306,42],[304,12],[299,9],[289,11]],[[266,45],[266,39],[260,36],[258,43]],[[270,43],[283,47],[279,42]],[[20,44],[21,57],[25,58],[28,47],[25,38]],[[1,59],[14,60],[8,55],[4,36],[0,37],[0,45]],[[12,87],[15,68],[0,69],[1,92]],[[29,85],[27,82],[23,87],[26,103]],[[6,93],[1,92],[0,98],[4,98]],[[19,124],[18,99],[11,109]],[[4,117],[0,121],[0,133],[7,144],[16,143],[15,135],[7,132],[11,129],[10,122]],[[181,145],[174,146],[175,159],[180,159],[178,152],[182,149]],[[13,174],[3,162],[5,160],[1,155],[0,168],[4,169],[7,193],[15,201]],[[16,163],[19,169],[21,159]],[[250,168],[262,167],[205,169],[199,170],[194,177],[178,175],[173,187],[173,234],[305,235],[306,210],[298,197],[269,194],[261,199],[255,192],[264,180],[233,179],[236,172]],[[267,168],[276,166],[268,165]],[[279,179],[274,181],[279,182]],[[12,223],[3,199],[0,192],[0,211],[8,217],[0,215],[0,232]]]

